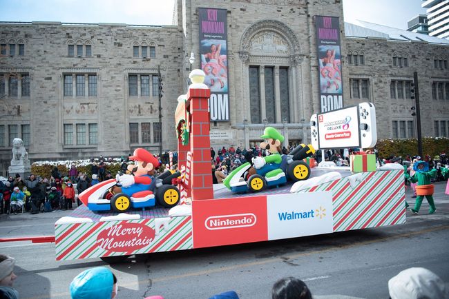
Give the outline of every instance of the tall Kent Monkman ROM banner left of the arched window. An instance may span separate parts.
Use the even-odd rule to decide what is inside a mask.
[[[201,69],[206,74],[204,84],[211,89],[211,121],[229,121],[226,17],[227,10],[198,8]]]

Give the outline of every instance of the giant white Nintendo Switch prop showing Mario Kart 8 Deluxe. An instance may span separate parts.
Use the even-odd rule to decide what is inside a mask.
[[[369,148],[377,142],[376,108],[372,103],[313,114],[310,124],[315,149]]]

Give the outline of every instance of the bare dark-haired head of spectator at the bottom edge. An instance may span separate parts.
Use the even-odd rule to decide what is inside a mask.
[[[276,281],[271,289],[273,299],[312,299],[312,293],[303,280],[286,277]]]

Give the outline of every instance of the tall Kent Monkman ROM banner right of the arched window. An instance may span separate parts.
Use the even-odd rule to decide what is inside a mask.
[[[343,108],[340,22],[338,17],[315,16],[321,112]]]

